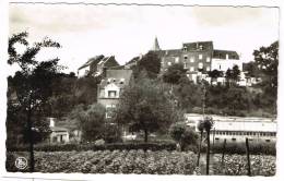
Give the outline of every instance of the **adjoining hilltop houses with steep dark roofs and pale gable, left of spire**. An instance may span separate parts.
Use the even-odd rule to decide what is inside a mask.
[[[104,57],[103,55],[91,58],[78,69],[78,76],[86,75],[98,76],[104,72],[104,69],[119,67],[115,56]]]

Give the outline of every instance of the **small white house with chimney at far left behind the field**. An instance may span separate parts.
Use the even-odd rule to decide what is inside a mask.
[[[50,143],[69,143],[69,132],[68,129],[56,126],[55,125],[55,118],[48,118],[49,120],[49,128],[51,133],[49,135]]]

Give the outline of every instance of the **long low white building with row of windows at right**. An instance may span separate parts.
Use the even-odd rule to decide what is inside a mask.
[[[203,119],[202,114],[186,113],[187,124],[197,129],[197,124]],[[215,142],[244,142],[246,137],[257,142],[275,142],[276,141],[276,119],[274,118],[242,118],[242,117],[222,117],[210,116],[214,120],[211,132]]]

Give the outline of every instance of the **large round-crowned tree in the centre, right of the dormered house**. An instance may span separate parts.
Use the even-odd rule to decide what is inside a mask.
[[[162,85],[147,77],[126,87],[115,110],[115,121],[134,132],[143,131],[144,142],[151,132],[167,130],[176,118],[174,102]]]

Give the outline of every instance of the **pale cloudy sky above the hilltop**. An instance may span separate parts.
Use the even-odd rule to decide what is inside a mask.
[[[146,53],[155,37],[162,49],[212,40],[215,49],[235,50],[247,62],[255,49],[279,39],[279,9],[10,4],[9,34],[23,31],[31,43],[46,36],[60,43],[60,49],[45,49],[37,59],[58,57],[66,72],[76,72],[97,55],[115,56],[123,64]]]

